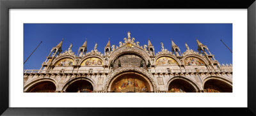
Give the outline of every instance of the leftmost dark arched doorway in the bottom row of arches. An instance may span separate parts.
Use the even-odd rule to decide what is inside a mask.
[[[55,92],[56,86],[53,82],[44,81],[37,83],[29,89],[28,92]]]

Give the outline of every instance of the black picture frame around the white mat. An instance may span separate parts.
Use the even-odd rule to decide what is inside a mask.
[[[9,10],[15,8],[244,8],[248,10],[247,108],[10,108]],[[0,114],[2,115],[256,115],[255,0],[10,0],[0,1]],[[243,41],[244,38],[241,38]],[[246,49],[246,48],[244,48]],[[246,76],[241,77],[246,78]],[[239,99],[237,99],[239,100]],[[202,101],[204,102],[204,101]],[[236,101],[234,101],[236,102]]]

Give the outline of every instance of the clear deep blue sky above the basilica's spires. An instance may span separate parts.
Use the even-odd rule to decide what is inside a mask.
[[[68,49],[72,43],[72,51],[77,54],[78,48],[87,38],[87,51],[97,50],[104,53],[104,47],[110,38],[111,46],[127,38],[127,32],[140,45],[147,45],[150,39],[155,52],[161,51],[161,41],[164,48],[172,50],[171,39],[185,52],[185,42],[189,48],[197,52],[195,38],[206,45],[220,64],[232,64],[231,52],[221,43],[223,40],[232,50],[232,24],[24,24],[24,61],[36,46],[40,47],[24,64],[24,69],[40,69],[42,62],[51,52],[51,48],[64,38],[62,50]]]

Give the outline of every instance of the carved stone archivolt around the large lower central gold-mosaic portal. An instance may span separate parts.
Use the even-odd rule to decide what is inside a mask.
[[[110,86],[109,83],[111,82],[111,80],[113,78],[115,78],[115,76],[117,76],[121,73],[124,73],[124,72],[128,72],[128,71],[135,71],[135,72],[141,73],[142,75],[145,75],[147,77],[147,79],[150,80],[150,82],[152,83],[154,91],[158,91],[159,87],[158,87],[156,78],[152,78],[153,75],[148,73],[148,71],[143,68],[118,68],[118,69],[116,69],[110,75],[107,76],[107,80],[104,83],[104,91],[108,91],[108,87]]]

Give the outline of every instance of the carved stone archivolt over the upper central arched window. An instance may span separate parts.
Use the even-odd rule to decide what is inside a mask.
[[[148,53],[145,52],[145,50],[142,50],[141,48],[138,48],[138,47],[129,47],[129,48],[127,48],[127,47],[123,46],[123,47],[120,47],[120,48],[118,48],[118,49],[116,49],[115,51],[112,52],[112,54],[109,57],[109,61],[113,61],[118,56],[120,56],[122,54],[125,54],[125,53],[138,54],[145,60],[145,62],[147,62],[147,64],[148,64],[148,60],[150,60],[150,57],[149,57]],[[108,65],[110,65],[110,62],[109,62]]]

